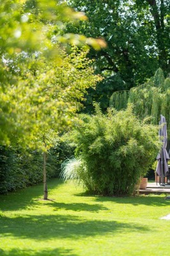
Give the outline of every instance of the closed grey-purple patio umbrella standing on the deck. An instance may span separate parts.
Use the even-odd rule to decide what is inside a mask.
[[[160,148],[160,152],[157,156],[157,169],[156,172],[158,176],[160,176],[161,183],[164,184],[164,177],[168,175],[168,166],[167,161],[169,160],[169,154],[167,153],[167,129],[166,129],[166,118],[160,115],[160,129],[158,131],[158,135],[160,141],[162,142],[162,147]]]

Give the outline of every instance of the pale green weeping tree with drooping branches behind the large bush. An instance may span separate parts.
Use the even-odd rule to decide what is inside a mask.
[[[160,114],[164,115],[170,136],[170,77],[165,79],[161,68],[146,83],[111,96],[110,106],[118,110],[125,109],[128,103],[134,104],[135,115],[140,118],[153,116],[152,124],[158,124]]]

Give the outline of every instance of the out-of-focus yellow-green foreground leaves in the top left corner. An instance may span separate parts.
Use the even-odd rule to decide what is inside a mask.
[[[75,12],[63,1],[1,0],[0,17],[1,54],[42,51],[45,56],[55,57],[59,52],[54,39],[65,45],[88,44],[97,49],[104,46],[102,40],[82,35],[56,35],[58,29],[62,30],[63,22],[87,19],[83,12]]]

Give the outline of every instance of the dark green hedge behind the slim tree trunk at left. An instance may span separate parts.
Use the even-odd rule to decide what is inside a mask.
[[[68,143],[60,143],[47,154],[47,179],[58,177],[61,163],[73,154]],[[43,181],[43,154],[0,147],[0,194]]]

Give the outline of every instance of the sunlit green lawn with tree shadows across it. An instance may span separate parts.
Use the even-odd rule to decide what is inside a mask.
[[[0,196],[0,255],[169,255],[170,200],[83,195],[58,179]]]

